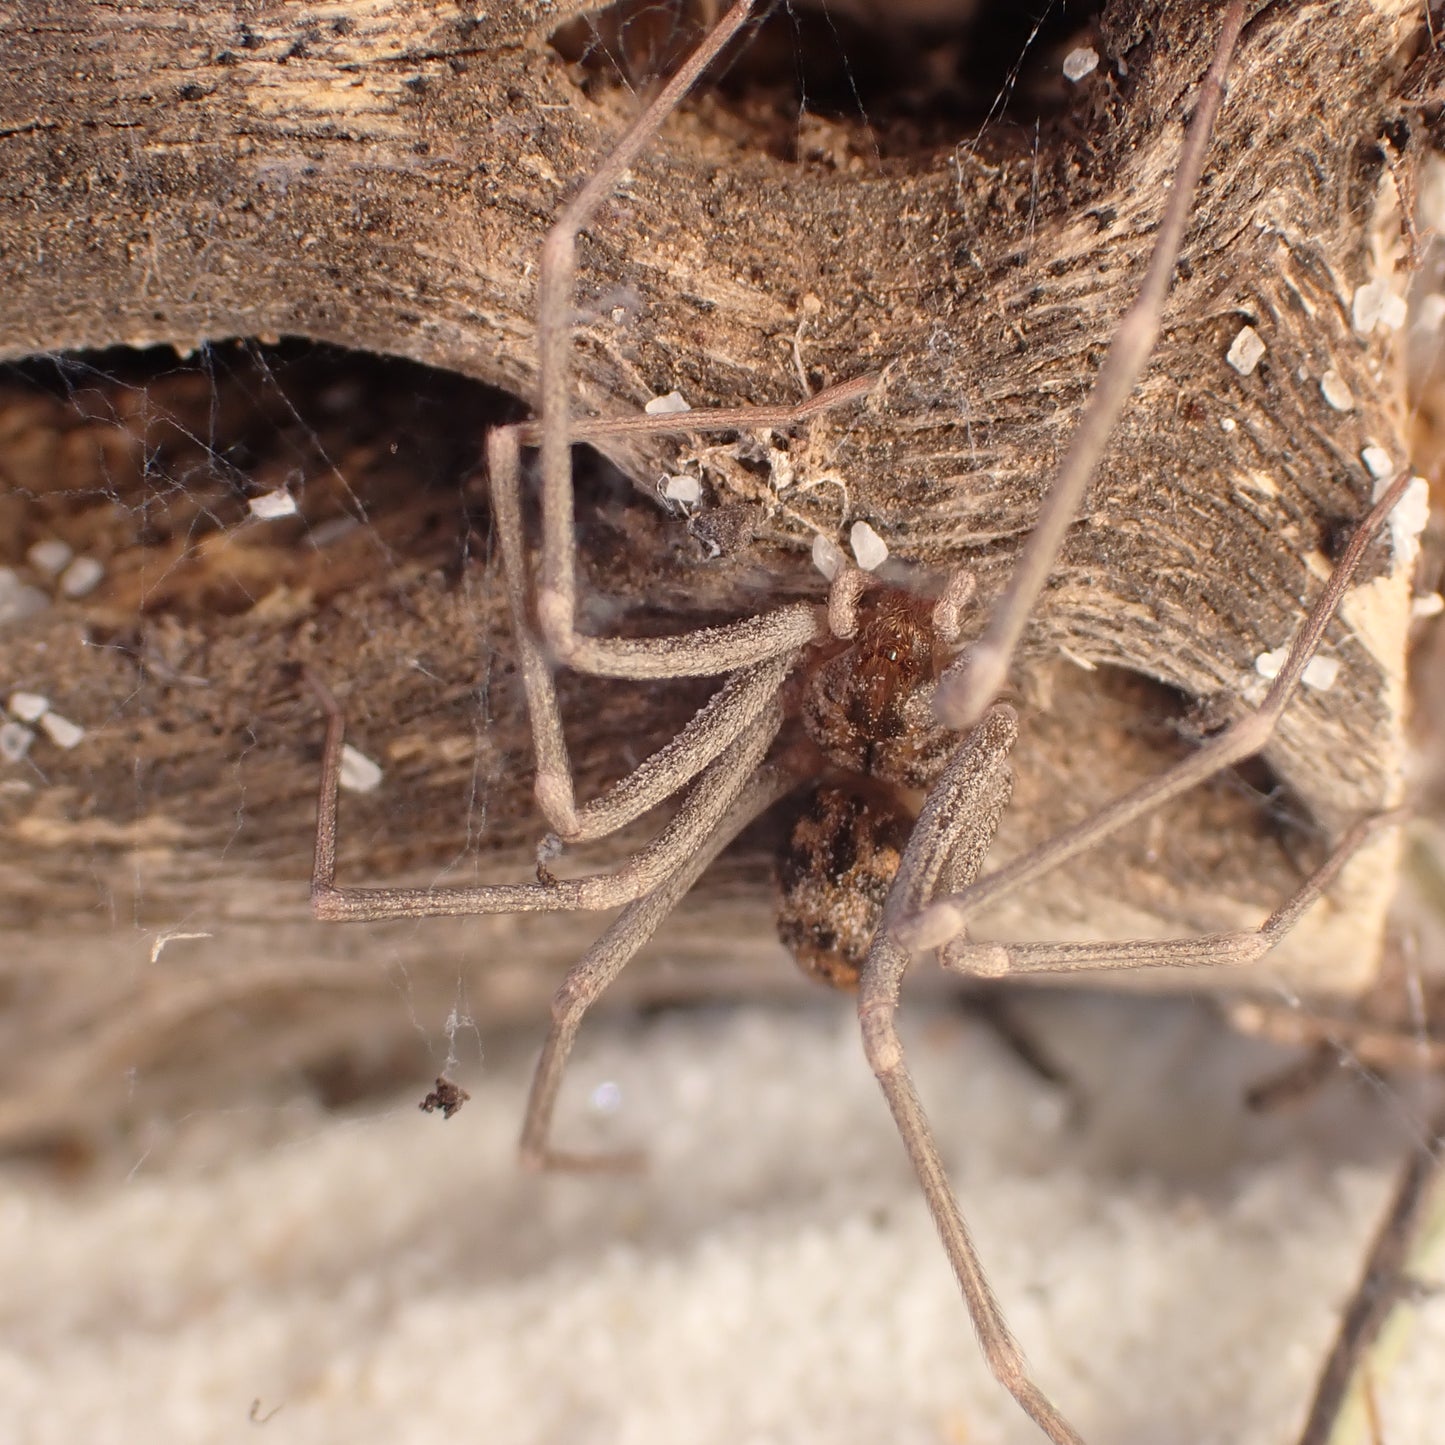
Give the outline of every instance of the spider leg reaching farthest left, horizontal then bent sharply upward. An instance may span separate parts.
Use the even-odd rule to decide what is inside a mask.
[[[480,913],[555,913],[617,907],[656,887],[707,840],[727,815],[782,725],[775,698],[751,727],[698,777],[666,828],[610,873],[551,883],[493,883],[461,889],[337,887],[337,795],[345,720],[335,698],[309,670],[311,689],[327,714],[327,741],[316,799],[316,847],[311,907],[319,919],[471,916]]]

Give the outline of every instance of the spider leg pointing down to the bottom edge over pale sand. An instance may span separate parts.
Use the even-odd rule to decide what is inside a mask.
[[[944,1251],[954,1269],[988,1368],[1053,1445],[1082,1445],[1079,1436],[1029,1377],[1023,1351],[998,1308],[962,1211],[948,1182],[933,1131],[903,1055],[894,1014],[909,955],[893,936],[893,916],[928,900],[945,873],[977,873],[1007,806],[1013,780],[1007,754],[1017,736],[1010,708],[993,708],[955,749],[929,790],[909,838],[883,922],[858,980],[858,1023],[868,1064],[877,1075],[903,1139]]]

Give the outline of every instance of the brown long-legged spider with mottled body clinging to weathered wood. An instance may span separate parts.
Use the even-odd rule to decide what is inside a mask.
[[[538,880],[467,889],[338,887],[337,788],[344,720],[325,686],[311,678],[327,712],[314,909],[321,919],[364,920],[620,907],[555,996],[520,1142],[522,1159],[530,1168],[617,1168],[633,1163],[634,1156],[575,1153],[555,1149],[549,1142],[562,1069],[584,1014],[730,840],[803,782],[815,782],[821,767],[828,770],[832,776],[814,793],[785,854],[785,938],[812,971],[857,990],[867,1058],[918,1173],[990,1368],[1053,1445],[1079,1445],[1079,1435],[1030,1377],[949,1186],[894,1026],[903,974],[910,958],[928,949],[935,951],[945,968],[974,975],[1162,962],[1238,965],[1267,952],[1381,819],[1367,818],[1348,829],[1293,897],[1250,932],[1165,942],[1004,946],[968,941],[965,926],[983,903],[1040,877],[1264,746],[1366,549],[1409,478],[1402,473],[1386,487],[1357,526],[1254,711],[1244,712],[1182,762],[1092,818],[978,877],[1009,802],[1009,750],[1017,733],[1013,709],[996,698],[1062,535],[1078,512],[1157,335],[1192,194],[1224,98],[1224,78],[1244,22],[1244,0],[1231,0],[1198,91],[1139,298],[1118,327],[1038,526],[980,642],[955,656],[961,617],[972,591],[965,572],[951,575],[929,603],[897,588],[874,588],[847,564],[832,577],[822,607],[792,603],[660,639],[579,631],[569,452],[574,442],[639,432],[798,426],[824,410],[863,402],[877,380],[861,376],[796,406],[689,412],[681,420],[571,418],[568,345],[577,237],[665,117],[738,30],[753,0],[738,0],[717,22],[555,221],[539,266],[540,418],[494,429],[487,438],[493,517],[532,727],[535,789],[552,829],[538,850]],[[542,520],[535,566],[520,504],[523,447],[540,451]],[[553,686],[555,666],[633,681],[725,676],[725,682],[670,743],[603,796],[579,803]],[[923,793],[916,816],[899,806],[907,789]],[[681,795],[681,802],[670,821],[652,842],[611,871],[575,879],[551,871],[551,863],[569,845],[616,834],[675,795]]]

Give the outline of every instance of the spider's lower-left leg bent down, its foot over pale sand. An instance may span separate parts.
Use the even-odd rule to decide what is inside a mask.
[[[613,980],[652,938],[662,920],[678,906],[712,860],[754,818],[766,812],[798,783],[796,773],[770,764],[757,769],[724,819],[696,850],[650,893],[629,903],[611,928],[566,974],[552,998],[552,1027],[542,1045],[532,1075],[527,1111],[522,1124],[522,1163],[527,1169],[626,1169],[642,1162],[634,1152],[582,1155],[553,1149],[548,1143],[558,1090],[568,1055],[587,1010],[611,987]]]

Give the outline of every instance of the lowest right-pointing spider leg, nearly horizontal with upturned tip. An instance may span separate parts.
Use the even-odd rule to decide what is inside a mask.
[[[1329,857],[1257,929],[1202,933],[1195,938],[1142,938],[1118,944],[971,944],[951,941],[941,949],[944,965],[985,978],[1004,974],[1072,974],[1098,968],[1246,968],[1263,958],[1324,894],[1355,851],[1402,814],[1380,814],[1357,822]]]

